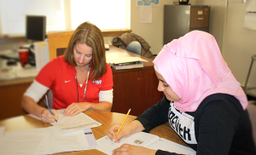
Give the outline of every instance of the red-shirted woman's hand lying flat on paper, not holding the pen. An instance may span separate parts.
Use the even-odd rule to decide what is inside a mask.
[[[70,117],[75,116],[79,112],[84,112],[90,108],[90,103],[73,103],[67,106],[67,109],[64,111],[64,116]]]

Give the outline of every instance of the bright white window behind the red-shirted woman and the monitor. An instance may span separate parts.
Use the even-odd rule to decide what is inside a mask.
[[[102,30],[130,28],[130,0],[0,0],[1,34],[24,36],[26,14],[46,15],[46,32],[74,30],[84,21]]]

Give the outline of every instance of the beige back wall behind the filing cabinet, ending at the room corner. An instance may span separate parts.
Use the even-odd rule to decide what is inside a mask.
[[[143,24],[140,23],[140,8],[136,7],[135,0],[131,0],[131,30],[148,42],[153,54],[158,54],[163,47],[164,5],[173,4],[173,2],[178,2],[178,0],[160,0],[160,6],[152,8],[152,23]],[[211,5],[209,32],[216,38],[220,49],[224,34],[225,2],[226,0],[189,1],[192,5]]]

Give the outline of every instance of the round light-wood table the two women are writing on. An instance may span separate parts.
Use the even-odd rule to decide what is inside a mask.
[[[86,111],[84,112],[90,118],[95,119],[97,122],[102,123],[101,126],[92,128],[93,135],[96,140],[102,138],[107,135],[108,129],[113,123],[122,123],[125,118],[125,114],[117,113],[117,112],[99,112],[99,111]],[[131,123],[134,120],[135,116],[129,115],[125,121],[125,123]],[[5,126],[5,131],[18,130],[18,129],[37,129],[37,128],[46,128],[51,126],[49,123],[43,123],[36,118],[32,118],[28,115],[22,115],[15,118],[8,118],[0,121],[0,126]],[[160,125],[155,129],[150,131],[150,134],[158,135],[162,138],[166,138],[167,140],[174,141],[183,146],[187,146],[182,139],[175,133],[175,131],[168,127],[166,124]],[[90,155],[101,155],[105,154],[103,152],[99,152],[98,150],[84,150],[79,152],[61,152],[56,154],[90,154]]]

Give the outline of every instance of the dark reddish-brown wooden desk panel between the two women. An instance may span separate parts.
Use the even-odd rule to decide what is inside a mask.
[[[157,87],[153,67],[113,73],[112,112],[126,113],[131,108],[130,114],[138,116],[164,96]]]

